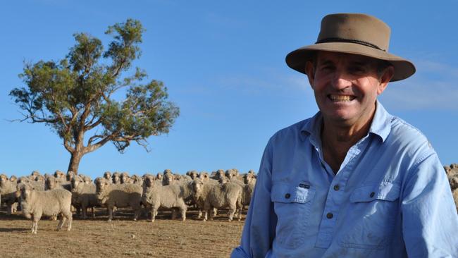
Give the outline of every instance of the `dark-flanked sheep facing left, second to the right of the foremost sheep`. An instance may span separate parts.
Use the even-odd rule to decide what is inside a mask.
[[[131,207],[135,211],[134,221],[138,219],[142,202],[142,186],[137,184],[110,184],[104,178],[96,178],[95,185],[96,197],[99,204],[108,210],[109,221],[113,219],[114,207]]]

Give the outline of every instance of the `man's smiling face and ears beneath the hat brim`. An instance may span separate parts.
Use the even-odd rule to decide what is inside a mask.
[[[306,67],[316,103],[325,121],[363,125],[371,120],[376,98],[392,77],[392,67],[377,73],[377,61],[366,56],[319,51]]]

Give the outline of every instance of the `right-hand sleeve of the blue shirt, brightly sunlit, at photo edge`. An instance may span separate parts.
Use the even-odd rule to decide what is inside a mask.
[[[458,215],[437,154],[423,155],[402,196],[403,235],[409,257],[458,257]]]

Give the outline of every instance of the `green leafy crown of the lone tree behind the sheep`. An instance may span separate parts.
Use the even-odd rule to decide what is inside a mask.
[[[149,136],[168,133],[180,111],[167,101],[163,83],[142,84],[147,74],[140,68],[121,78],[140,56],[143,32],[140,21],[128,19],[105,32],[113,36],[106,51],[100,39],[76,33],[65,59],[26,63],[19,75],[25,87],[10,92],[23,110],[22,121],[46,123],[68,152],[82,155],[106,142],[120,152],[131,141],[147,147]],[[126,89],[125,99],[116,101],[113,93],[121,88]],[[84,144],[85,133],[92,129],[96,132]]]

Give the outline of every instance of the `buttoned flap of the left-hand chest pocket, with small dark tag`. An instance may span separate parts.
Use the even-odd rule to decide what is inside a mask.
[[[272,185],[272,202],[309,202],[315,195],[315,190],[308,183],[286,184],[274,183]]]

